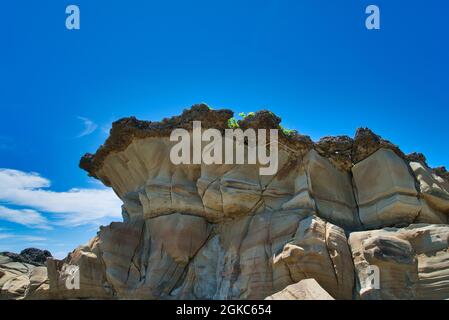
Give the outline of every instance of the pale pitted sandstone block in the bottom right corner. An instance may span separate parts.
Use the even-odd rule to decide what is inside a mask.
[[[415,224],[354,232],[349,237],[362,299],[447,299],[449,226]],[[373,289],[369,266],[379,268]]]

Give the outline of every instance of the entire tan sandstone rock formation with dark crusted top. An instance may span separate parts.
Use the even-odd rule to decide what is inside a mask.
[[[64,260],[48,260],[42,296],[449,298],[445,171],[369,129],[317,143],[281,130],[271,176],[260,175],[260,163],[171,163],[173,129],[199,120],[223,133],[232,114],[195,105],[162,122],[115,122],[80,166],[120,197],[123,222],[102,227]],[[279,129],[280,119],[261,111],[238,124]],[[371,265],[380,289],[367,287]],[[73,266],[75,290],[66,285]],[[41,271],[25,290],[45,278]]]

